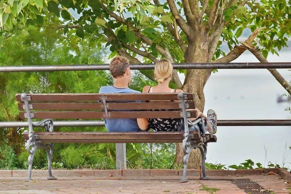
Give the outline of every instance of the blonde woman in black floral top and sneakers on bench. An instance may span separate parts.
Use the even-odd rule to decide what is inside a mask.
[[[183,92],[180,89],[172,89],[169,88],[169,82],[172,78],[172,71],[173,66],[172,64],[166,60],[161,59],[156,63],[154,74],[155,79],[158,82],[156,86],[145,86],[142,90],[142,93],[178,93]],[[217,116],[213,110],[209,110],[207,112],[207,116],[204,115],[199,109],[195,109],[198,112],[198,117],[205,118],[206,122],[206,129],[208,132],[215,134],[216,133],[216,123],[217,123]],[[198,118],[197,117],[197,118]],[[196,120],[197,118],[190,118],[191,121]],[[138,121],[139,126],[148,126],[148,129],[153,129],[154,131],[179,131],[179,126],[181,125],[183,119],[159,119],[153,118]],[[142,122],[142,123],[141,123]],[[166,126],[164,124],[167,124]],[[180,124],[180,125],[179,125]],[[183,124],[182,124],[183,127]],[[182,129],[184,130],[184,129]],[[189,131],[196,131],[195,127],[189,126]]]

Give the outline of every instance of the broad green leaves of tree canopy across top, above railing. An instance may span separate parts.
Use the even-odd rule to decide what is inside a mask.
[[[222,9],[217,21],[223,26],[221,41],[217,45],[213,59],[226,54],[220,46],[222,41],[227,42],[229,48],[238,44],[238,38],[246,28],[252,32],[259,27],[263,30],[257,36],[255,43],[263,47],[263,55],[268,52],[277,54],[282,47],[287,46],[286,41],[291,33],[291,9],[290,1],[251,0],[244,6],[240,6],[242,0],[238,0],[227,9]],[[211,9],[213,1],[208,2]],[[180,14],[185,12],[181,2],[177,2],[177,10]],[[203,2],[199,3],[202,9]],[[223,5],[220,5],[223,7]],[[80,17],[68,10],[72,8]],[[91,9],[88,9],[91,8]],[[224,7],[223,7],[224,8]],[[219,11],[220,12],[220,11]],[[130,14],[125,14],[130,13]],[[27,0],[2,0],[0,6],[0,31],[5,36],[13,33],[15,29],[23,28],[25,25],[43,26],[42,21],[51,15],[56,16],[49,21],[49,28],[65,35],[77,35],[84,38],[86,33],[92,33],[97,37],[115,34],[116,39],[105,38],[110,50],[116,55],[124,45],[128,44],[136,49],[146,49],[155,58],[163,57],[163,53],[156,50],[157,46],[168,48],[175,62],[184,62],[184,52],[179,48],[173,34],[169,32],[167,25],[171,25],[174,16],[167,2],[161,5],[154,4],[150,0],[121,0],[121,1],[54,1],[42,2]],[[122,15],[120,19],[119,15]],[[205,25],[209,20],[209,12],[205,12],[202,23]],[[56,25],[62,24],[62,27]],[[65,24],[65,25],[64,25]],[[79,25],[77,29],[68,28],[69,25]],[[60,26],[60,25],[59,25]],[[172,26],[173,28],[173,26]],[[84,32],[85,30],[85,32]],[[149,38],[152,43],[145,43],[137,34]],[[211,32],[210,32],[211,33]],[[183,31],[178,32],[179,39],[186,45],[188,39]],[[220,35],[220,34],[219,34]],[[176,36],[176,35],[175,35]],[[135,41],[136,40],[136,41]],[[122,43],[122,44],[121,44]],[[137,53],[125,47],[125,51],[135,57]],[[144,61],[149,60],[144,58]]]

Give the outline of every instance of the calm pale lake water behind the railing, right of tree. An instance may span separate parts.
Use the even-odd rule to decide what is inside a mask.
[[[291,62],[290,48],[282,49],[279,55],[269,54],[267,59],[269,62]],[[258,60],[246,51],[233,62]],[[278,71],[287,81],[291,80],[290,71]],[[183,80],[184,76],[180,78]],[[205,85],[204,113],[214,109],[218,119],[291,119],[290,111],[284,110],[291,106],[291,101],[276,101],[283,93],[287,92],[266,69],[219,69]],[[263,166],[269,161],[280,166],[283,162],[291,162],[291,126],[219,126],[216,135],[218,142],[208,144],[208,162],[238,165],[251,159]],[[291,168],[291,165],[286,163],[284,167]]]

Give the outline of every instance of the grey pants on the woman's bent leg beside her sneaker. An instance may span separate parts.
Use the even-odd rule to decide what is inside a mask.
[[[178,131],[185,131],[184,123],[178,123]],[[207,122],[205,118],[199,117],[194,121],[188,119],[188,130],[189,131],[200,131],[201,135],[205,135],[207,132]]]

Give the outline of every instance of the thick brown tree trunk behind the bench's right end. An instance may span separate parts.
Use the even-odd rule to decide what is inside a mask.
[[[201,35],[201,38],[196,38],[195,41],[189,41],[188,48],[185,52],[185,62],[189,63],[205,63],[208,59],[208,44],[207,39]],[[211,75],[209,69],[189,69],[186,73],[184,86],[182,90],[184,92],[194,93],[195,102],[197,108],[203,112],[205,98],[203,88]],[[176,147],[176,159],[177,165],[183,163],[184,152],[182,151],[182,143],[177,143]],[[201,164],[201,154],[199,149],[192,150],[189,157],[188,168],[199,169]]]

